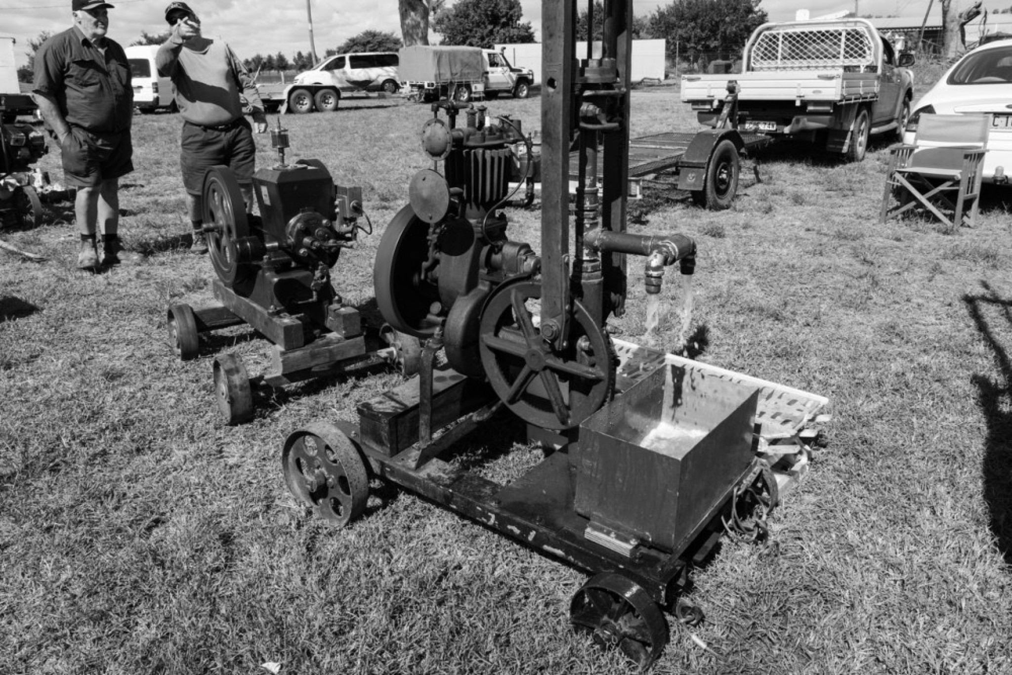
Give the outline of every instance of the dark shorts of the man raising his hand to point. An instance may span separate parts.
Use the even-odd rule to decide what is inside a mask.
[[[256,144],[246,117],[240,117],[224,130],[184,122],[180,146],[179,164],[183,170],[183,185],[189,194],[201,194],[203,174],[219,165],[232,169],[240,185],[253,182]]]

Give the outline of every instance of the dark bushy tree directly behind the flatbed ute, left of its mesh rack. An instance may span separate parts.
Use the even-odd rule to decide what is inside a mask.
[[[737,56],[767,21],[759,0],[674,0],[650,16],[650,34],[668,40],[669,57],[698,63]]]

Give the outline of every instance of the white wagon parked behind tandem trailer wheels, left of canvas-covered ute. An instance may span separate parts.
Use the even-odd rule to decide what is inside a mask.
[[[283,100],[292,112],[336,110],[342,92],[385,91],[400,88],[398,57],[393,52],[363,52],[328,57],[296,76],[284,89]]]

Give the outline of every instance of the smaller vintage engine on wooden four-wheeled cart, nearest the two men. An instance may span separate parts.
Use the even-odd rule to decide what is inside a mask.
[[[217,303],[194,310],[169,308],[170,341],[180,358],[199,354],[198,334],[248,324],[274,343],[271,363],[258,377],[272,387],[336,374],[369,360],[399,360],[410,369],[417,341],[394,333],[392,347],[367,352],[359,313],[346,306],[331,282],[341,251],[353,248],[364,216],[360,187],[335,185],[319,160],[287,164],[286,130],[271,130],[279,161],[259,169],[253,189],[260,216],[246,213],[235,175],[228,167],[207,171],[203,222],[218,278]],[[215,387],[228,424],[253,415],[246,367],[233,353],[215,359]]]

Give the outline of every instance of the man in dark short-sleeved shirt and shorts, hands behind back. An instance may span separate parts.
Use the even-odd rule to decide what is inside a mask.
[[[119,177],[134,170],[134,88],[123,49],[105,36],[109,7],[73,0],[74,25],[47,39],[35,54],[32,89],[60,141],[66,182],[77,188],[77,266],[91,270],[99,265],[96,225],[102,231],[102,264],[120,262]]]

